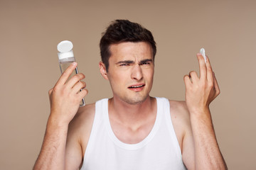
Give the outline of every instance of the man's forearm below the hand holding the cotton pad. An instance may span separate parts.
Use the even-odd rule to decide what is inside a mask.
[[[196,169],[228,169],[218,147],[210,111],[203,112],[191,113]]]

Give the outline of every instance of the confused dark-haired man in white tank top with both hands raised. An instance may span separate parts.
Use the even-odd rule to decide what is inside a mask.
[[[114,21],[100,40],[113,97],[79,108],[84,74],[66,69],[49,91],[50,116],[34,169],[227,169],[209,104],[220,93],[210,62],[184,77],[186,101],[149,96],[156,45],[137,23]],[[79,89],[83,89],[77,93]]]

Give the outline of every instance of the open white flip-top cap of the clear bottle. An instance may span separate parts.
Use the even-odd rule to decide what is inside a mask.
[[[62,60],[64,58],[68,57],[74,57],[73,54],[73,43],[70,42],[69,40],[63,40],[62,42],[58,43],[57,45],[58,49],[58,57],[59,60]]]

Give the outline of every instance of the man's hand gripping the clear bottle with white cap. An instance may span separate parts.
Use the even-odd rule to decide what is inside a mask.
[[[85,78],[84,74],[75,74],[70,77],[70,74],[77,67],[77,63],[70,64],[68,69],[63,72],[57,83],[50,89],[50,118],[55,123],[67,125],[74,118],[80,106],[80,101],[87,95],[87,89],[84,89],[86,84],[80,81]],[[68,79],[70,77],[70,79]],[[82,89],[82,91],[80,91]]]

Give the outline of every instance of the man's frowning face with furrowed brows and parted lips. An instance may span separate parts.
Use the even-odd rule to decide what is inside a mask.
[[[110,45],[107,79],[114,98],[129,104],[149,97],[154,78],[151,46],[146,42],[122,42]]]

